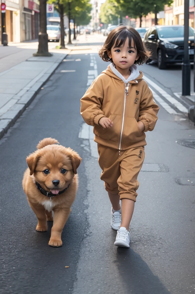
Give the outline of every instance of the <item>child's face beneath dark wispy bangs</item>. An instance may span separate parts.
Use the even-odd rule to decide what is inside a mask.
[[[116,42],[115,42],[116,43]],[[107,51],[109,58],[112,58],[114,64],[121,69],[127,69],[132,66],[139,58],[137,49],[134,46],[134,41],[131,42],[131,48],[129,47],[129,39],[127,38],[125,44],[120,47],[112,46],[111,51]]]

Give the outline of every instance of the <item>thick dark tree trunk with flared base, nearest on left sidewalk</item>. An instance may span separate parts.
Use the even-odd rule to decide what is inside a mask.
[[[52,56],[48,51],[46,0],[40,0],[40,32],[38,34],[38,51],[33,56]]]

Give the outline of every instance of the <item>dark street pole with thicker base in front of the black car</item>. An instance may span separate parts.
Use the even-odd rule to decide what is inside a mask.
[[[182,63],[182,96],[190,95],[189,0],[184,0],[184,62]]]

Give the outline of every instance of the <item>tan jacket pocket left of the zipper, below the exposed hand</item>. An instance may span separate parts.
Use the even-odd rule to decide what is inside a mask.
[[[98,135],[100,138],[104,140],[111,140],[114,142],[119,141],[119,131],[120,131],[120,123],[121,123],[121,115],[119,114],[111,114],[109,118],[113,122],[113,126],[111,128],[102,128],[102,126],[98,129]]]

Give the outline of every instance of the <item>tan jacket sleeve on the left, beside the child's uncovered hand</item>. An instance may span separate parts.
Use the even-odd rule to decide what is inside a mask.
[[[81,98],[80,113],[88,125],[98,125],[100,118],[105,117],[101,110],[102,100],[103,94],[97,84],[93,81],[87,92]]]

